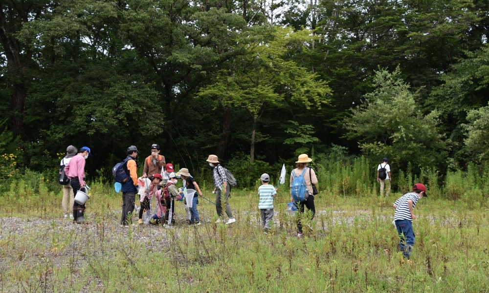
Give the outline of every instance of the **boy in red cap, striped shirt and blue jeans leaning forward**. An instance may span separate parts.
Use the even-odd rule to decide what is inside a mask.
[[[404,194],[394,203],[394,223],[399,233],[399,248],[402,255],[409,260],[411,249],[414,245],[413,219],[414,207],[420,198],[426,195],[426,187],[424,184],[416,183],[413,186],[413,191]]]

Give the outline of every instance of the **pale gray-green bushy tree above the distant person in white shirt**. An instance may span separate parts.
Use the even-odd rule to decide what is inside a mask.
[[[438,132],[438,113],[422,115],[416,94],[399,76],[399,67],[376,72],[375,90],[345,119],[346,137],[356,139],[365,154],[389,157],[400,167],[441,164],[447,146]]]

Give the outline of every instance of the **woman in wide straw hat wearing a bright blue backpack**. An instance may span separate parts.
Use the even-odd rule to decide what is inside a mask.
[[[309,197],[307,200],[296,204],[299,207],[298,209],[299,213],[304,213],[304,207],[306,207],[309,210],[311,210],[312,218],[314,218],[314,214],[316,213],[316,208],[314,206],[314,195],[312,194],[312,185],[317,184],[317,177],[316,177],[316,172],[314,172],[314,170],[311,167],[309,167],[308,170],[307,166],[311,162],[312,159],[309,158],[307,154],[302,154],[299,156],[297,162],[295,162],[295,169],[293,169],[292,173],[290,173],[290,188],[292,187],[292,181],[294,180],[294,177],[301,176],[301,175],[304,176],[304,181],[306,183],[306,189],[309,193]],[[304,235],[304,232],[302,231],[302,223],[299,220],[297,221],[297,237],[301,237],[302,235]]]

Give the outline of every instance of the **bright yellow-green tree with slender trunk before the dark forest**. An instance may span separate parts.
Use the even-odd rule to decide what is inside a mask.
[[[272,27],[272,34],[259,32],[251,48],[233,71],[221,71],[217,81],[203,88],[200,96],[213,96],[224,105],[246,109],[252,119],[250,160],[254,162],[257,122],[268,106],[280,107],[287,97],[294,103],[321,108],[332,91],[315,74],[288,61],[290,47],[311,40],[305,32]],[[238,61],[236,61],[238,62]]]

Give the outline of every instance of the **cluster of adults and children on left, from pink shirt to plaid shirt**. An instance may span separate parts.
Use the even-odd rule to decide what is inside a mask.
[[[65,219],[68,217],[78,224],[85,222],[85,204],[81,205],[74,201],[79,190],[86,188],[85,183],[85,160],[91,156],[90,148],[83,146],[77,153],[75,146],[67,147],[67,155],[60,162],[60,183],[62,176],[69,179],[69,183],[63,184],[63,213]],[[137,176],[136,157],[139,151],[136,146],[127,148],[127,157],[122,164],[127,172],[127,180],[120,182],[122,191],[122,213],[121,226],[132,224],[132,215],[135,206],[136,193],[139,195],[140,207],[137,208],[138,224],[143,224],[143,214],[151,210],[150,201],[155,198],[156,213],[151,216],[150,222],[157,224],[163,222],[166,225],[175,223],[175,200],[183,201],[186,211],[187,222],[190,225],[200,225],[199,211],[197,205],[202,191],[196,180],[190,175],[187,168],[181,168],[175,173],[174,166],[165,162],[165,157],[160,154],[160,147],[156,144],[151,146],[151,155],[144,160],[143,175]],[[220,217],[217,222],[222,221],[224,215],[222,204],[228,220],[225,224],[236,222],[229,205],[229,194],[231,186],[228,184],[226,173],[221,166],[218,157],[209,155],[206,160],[213,169],[214,191],[216,194],[216,212]],[[178,179],[182,180],[182,187],[178,188]],[[187,190],[195,190],[193,196],[185,197]],[[191,191],[190,191],[191,192]],[[186,204],[186,200],[191,204]],[[69,202],[69,206],[68,206]],[[170,222],[169,222],[170,221]]]

